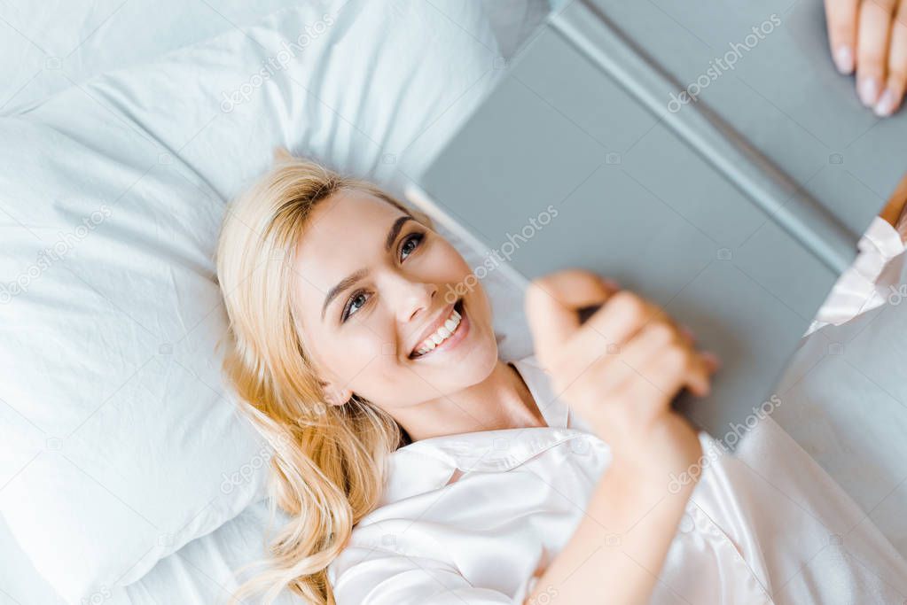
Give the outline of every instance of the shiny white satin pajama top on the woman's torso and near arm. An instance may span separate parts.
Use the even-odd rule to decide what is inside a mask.
[[[512,364],[548,427],[398,449],[381,502],[328,567],[338,605],[522,603],[570,539],[610,449],[534,357]],[[700,434],[702,475],[651,602],[904,603],[907,562],[774,420],[756,419],[733,455]],[[557,602],[550,588],[534,605]]]

